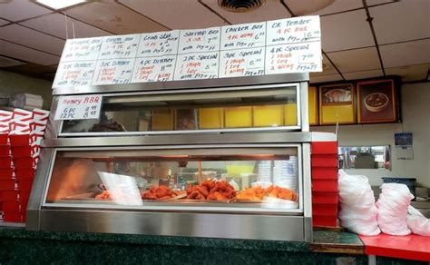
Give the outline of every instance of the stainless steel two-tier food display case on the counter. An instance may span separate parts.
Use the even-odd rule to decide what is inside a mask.
[[[184,108],[200,113],[201,109],[216,107],[223,110],[250,108],[252,123],[246,127],[239,123],[238,126],[234,123],[227,126],[224,121],[217,128],[208,129],[200,127],[200,116],[197,116],[197,124],[192,130],[176,125],[169,130],[148,129],[151,126],[141,130],[139,126],[125,125],[121,127],[128,126],[128,130],[120,130],[122,132],[91,132],[90,127],[94,124],[97,127],[102,122],[59,122],[51,116],[27,209],[27,230],[311,240],[308,74],[54,89],[52,113],[60,96],[76,93],[103,94],[102,113],[111,118],[108,119],[110,121],[112,117],[118,120],[121,116],[128,117],[122,122],[128,121],[131,115],[126,112],[144,113],[147,117],[145,113],[166,108],[177,114]],[[254,126],[254,120],[258,118],[258,113],[254,112],[256,106],[275,105],[278,110],[280,105],[284,110],[283,106],[291,103],[291,96],[296,108],[296,120],[292,125],[282,122]],[[110,112],[113,112],[112,116],[109,116]],[[153,121],[154,115],[150,115],[150,119]],[[173,120],[175,123],[176,118]],[[240,120],[236,117],[234,121]],[[84,129],[65,132],[67,126],[69,129]],[[76,170],[73,168],[76,161],[89,166],[82,171]],[[138,203],[97,201],[93,198],[94,194],[100,193],[97,184],[101,182],[101,175],[97,172],[121,175],[115,163],[132,168],[125,175],[134,178],[137,168],[144,168],[146,172],[154,164],[164,166],[164,170],[168,168],[168,174],[176,176],[181,169],[175,164],[184,161],[189,165],[199,165],[200,182],[202,168],[210,167],[216,168],[215,174],[220,180],[230,180],[227,178],[237,173],[243,177],[240,172],[229,172],[226,165],[231,162],[254,163],[253,172],[247,172],[247,177],[257,175],[256,178],[262,178],[257,168],[261,162],[267,161],[271,174],[269,182],[275,185],[281,181],[289,185],[294,183],[297,198],[291,201],[295,204],[273,200],[244,203],[234,198],[230,201],[145,201],[139,198]],[[290,179],[279,181],[284,176],[284,164],[292,162],[296,171],[289,175]],[[222,172],[225,169],[227,172]],[[239,190],[250,187],[250,182],[247,179]],[[181,187],[175,189],[181,190]]]

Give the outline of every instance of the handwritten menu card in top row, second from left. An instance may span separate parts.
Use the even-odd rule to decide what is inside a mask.
[[[99,60],[135,58],[141,34],[103,37]]]

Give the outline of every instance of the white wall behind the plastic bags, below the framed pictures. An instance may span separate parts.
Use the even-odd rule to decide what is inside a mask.
[[[430,187],[430,83],[404,84],[402,86],[403,123],[340,126],[339,145],[380,145],[392,147],[392,171],[348,170],[366,175],[372,185],[382,183],[386,176],[411,177],[425,187]],[[312,131],[334,132],[333,126],[314,127]],[[414,160],[397,160],[394,148],[395,132],[412,132]]]

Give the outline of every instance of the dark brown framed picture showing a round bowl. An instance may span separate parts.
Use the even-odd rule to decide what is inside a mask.
[[[358,123],[396,122],[396,90],[393,80],[357,83]]]

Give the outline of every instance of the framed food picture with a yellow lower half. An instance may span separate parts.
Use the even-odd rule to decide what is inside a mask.
[[[319,124],[352,124],[356,122],[353,83],[319,86]]]

